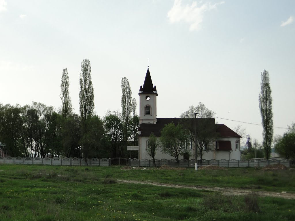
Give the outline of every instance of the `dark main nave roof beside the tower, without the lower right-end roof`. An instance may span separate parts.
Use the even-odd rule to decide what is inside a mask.
[[[202,122],[206,121],[206,123],[211,124],[212,126],[215,125],[214,118],[196,118],[196,126],[200,125]],[[190,126],[194,126],[194,118],[157,118],[157,123],[141,123],[141,135],[140,136],[150,136],[153,132],[155,136],[161,136],[162,128],[168,124],[173,122],[175,125],[178,123],[185,124],[189,123]]]

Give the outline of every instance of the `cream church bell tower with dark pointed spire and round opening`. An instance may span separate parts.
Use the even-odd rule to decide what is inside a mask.
[[[147,70],[143,87],[139,89],[139,123],[157,123],[157,89]]]

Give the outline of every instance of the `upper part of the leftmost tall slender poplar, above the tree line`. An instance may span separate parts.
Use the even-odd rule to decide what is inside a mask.
[[[70,81],[69,81],[69,76],[68,76],[68,69],[63,69],[63,75],[61,77],[61,94],[60,94],[60,99],[62,102],[62,107],[61,107],[61,115],[63,118],[67,118],[69,114],[72,113],[72,102],[70,98],[70,91],[69,91],[69,86],[70,86]]]

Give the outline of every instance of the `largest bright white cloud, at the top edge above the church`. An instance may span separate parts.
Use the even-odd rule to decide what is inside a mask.
[[[189,30],[194,31],[200,29],[204,12],[216,9],[216,6],[219,4],[224,4],[224,1],[213,5],[211,3],[204,3],[199,7],[197,6],[196,1],[194,1],[190,6],[188,4],[182,5],[181,3],[181,0],[175,0],[172,8],[170,11],[168,11],[167,17],[171,23],[180,21],[189,23]]]

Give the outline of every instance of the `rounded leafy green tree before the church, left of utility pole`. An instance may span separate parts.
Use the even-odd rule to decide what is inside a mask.
[[[169,154],[176,159],[179,166],[179,155],[190,154],[186,149],[186,142],[189,140],[189,133],[181,124],[175,125],[173,122],[166,124],[161,130],[160,148],[162,153]]]

